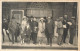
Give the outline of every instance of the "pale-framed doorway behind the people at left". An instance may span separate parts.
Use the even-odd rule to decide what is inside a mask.
[[[24,16],[24,10],[11,10],[10,21],[12,18],[15,18],[16,22],[21,24],[23,16]]]

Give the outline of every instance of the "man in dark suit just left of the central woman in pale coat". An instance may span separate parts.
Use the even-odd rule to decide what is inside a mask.
[[[36,21],[36,18],[33,18],[31,30],[32,30],[33,44],[36,44],[37,43],[37,34],[38,34],[38,22]]]

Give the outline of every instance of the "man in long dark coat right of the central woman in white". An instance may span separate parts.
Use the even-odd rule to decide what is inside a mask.
[[[48,45],[52,46],[52,37],[54,33],[54,22],[52,21],[51,17],[48,17],[46,22],[46,37]]]

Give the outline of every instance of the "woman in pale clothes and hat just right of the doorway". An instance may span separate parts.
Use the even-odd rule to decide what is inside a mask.
[[[21,44],[24,43],[24,39],[26,36],[26,16],[23,17],[22,23],[21,23]]]

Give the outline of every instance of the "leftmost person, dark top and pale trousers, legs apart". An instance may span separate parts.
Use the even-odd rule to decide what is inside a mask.
[[[5,35],[7,35],[9,41],[11,41],[10,36],[9,36],[9,32],[8,32],[8,21],[6,19],[3,19],[2,28],[3,28],[3,33],[2,33],[2,35],[3,35],[3,42],[4,42],[4,36]]]

